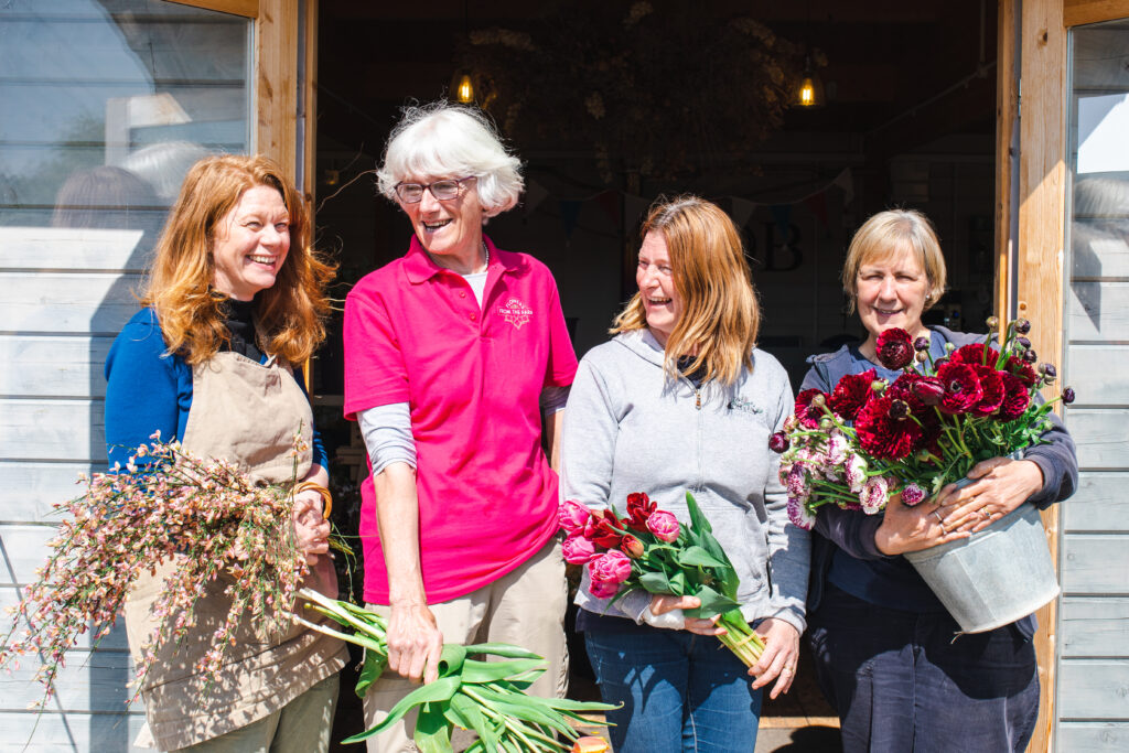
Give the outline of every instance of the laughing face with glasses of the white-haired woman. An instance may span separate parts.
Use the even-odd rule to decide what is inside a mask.
[[[458,180],[458,175],[412,175],[404,183],[427,185],[441,180]],[[478,181],[460,183],[458,195],[439,201],[430,191],[414,204],[400,201],[400,208],[412,222],[415,236],[431,259],[440,266],[462,266],[479,257],[482,247],[482,218],[487,213],[479,201]]]

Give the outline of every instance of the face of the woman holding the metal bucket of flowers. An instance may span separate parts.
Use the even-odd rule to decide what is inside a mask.
[[[895,251],[858,268],[858,316],[869,333],[867,342],[891,327],[911,336],[924,334],[921,312],[931,286],[917,254]]]

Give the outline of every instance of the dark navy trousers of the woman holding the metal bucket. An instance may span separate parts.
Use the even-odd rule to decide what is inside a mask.
[[[846,753],[1022,753],[1039,713],[1035,649],[1015,624],[961,636],[946,612],[869,604],[828,584],[808,615]]]

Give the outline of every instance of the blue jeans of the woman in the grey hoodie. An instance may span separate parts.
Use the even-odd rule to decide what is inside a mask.
[[[753,752],[761,691],[747,667],[712,636],[647,628],[584,636],[615,724],[615,753]]]

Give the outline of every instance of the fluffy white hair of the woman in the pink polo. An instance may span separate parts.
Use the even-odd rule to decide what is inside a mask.
[[[511,209],[522,195],[522,160],[506,151],[490,119],[443,99],[404,107],[376,172],[380,193],[392,201],[396,185],[412,177],[472,175],[483,220]]]

